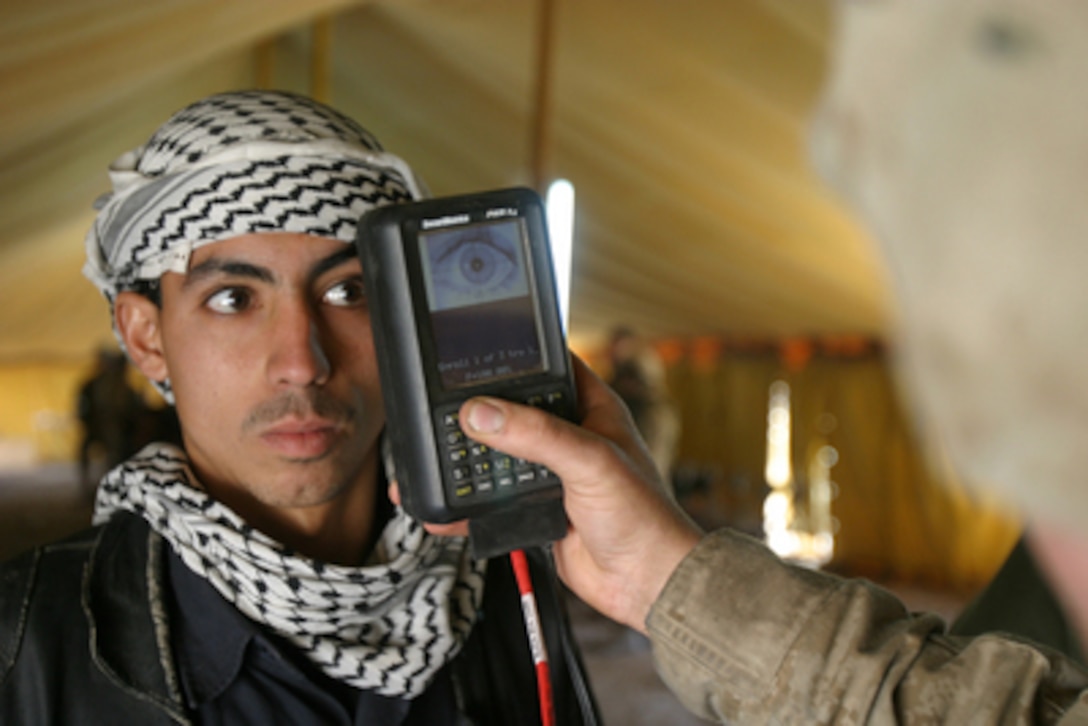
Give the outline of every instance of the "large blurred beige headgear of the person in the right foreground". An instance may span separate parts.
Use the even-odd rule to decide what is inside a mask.
[[[1088,3],[848,0],[817,165],[885,246],[963,473],[1088,515]]]

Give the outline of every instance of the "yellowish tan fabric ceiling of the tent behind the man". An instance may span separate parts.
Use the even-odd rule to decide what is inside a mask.
[[[500,0],[40,0],[0,10],[0,358],[108,337],[79,276],[104,169],[170,112],[257,82],[331,101],[436,194],[532,180],[537,5]],[[880,335],[866,236],[808,169],[828,5],[559,0],[546,171],[578,193],[572,334]],[[265,54],[265,58],[269,56]]]

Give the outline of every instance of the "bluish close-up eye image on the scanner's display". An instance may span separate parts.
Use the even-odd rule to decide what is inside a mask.
[[[517,220],[433,232],[423,239],[432,310],[529,294]]]

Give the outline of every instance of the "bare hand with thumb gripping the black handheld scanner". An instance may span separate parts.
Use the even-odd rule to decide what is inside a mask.
[[[583,409],[576,426],[497,398],[474,398],[466,431],[512,454],[539,458],[564,482],[571,529],[553,547],[559,576],[579,598],[638,630],[702,531],[666,492],[622,402],[573,358]]]

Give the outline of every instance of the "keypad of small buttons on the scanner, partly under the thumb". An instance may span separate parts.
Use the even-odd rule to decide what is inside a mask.
[[[533,394],[524,398],[529,406],[562,414],[567,397],[561,391]],[[558,482],[547,467],[493,450],[465,435],[457,410],[440,416],[444,457],[456,500],[486,499],[512,489],[540,488]]]

